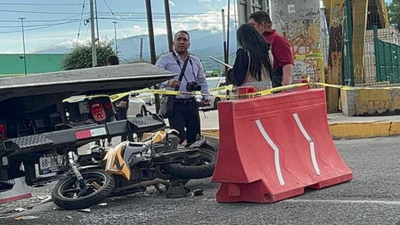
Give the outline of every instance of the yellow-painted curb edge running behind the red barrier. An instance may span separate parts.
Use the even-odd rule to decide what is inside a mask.
[[[400,136],[400,121],[330,123],[333,140]],[[219,129],[203,129],[206,139],[219,139]]]

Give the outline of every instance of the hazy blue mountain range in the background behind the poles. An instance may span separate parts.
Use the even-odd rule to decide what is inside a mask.
[[[223,60],[223,41],[222,32],[211,32],[210,30],[189,30],[190,34],[190,52],[202,60],[205,70],[213,70],[223,68],[219,63],[214,62],[208,56],[213,56],[219,60]],[[139,58],[140,38],[143,38],[143,58],[150,58],[150,44],[148,35],[130,36],[127,38],[117,38],[118,55],[121,63],[136,61]],[[230,64],[236,56],[236,32],[230,31]],[[168,52],[168,40],[166,34],[154,37],[156,46],[156,54],[160,55]],[[34,53],[54,54],[67,53],[68,48],[62,46],[50,47]]]

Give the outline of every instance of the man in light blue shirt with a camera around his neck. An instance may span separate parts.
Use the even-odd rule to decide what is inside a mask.
[[[179,87],[178,91],[182,92],[195,92],[200,89],[201,93],[210,94],[202,63],[196,56],[189,54],[189,46],[190,36],[188,32],[184,30],[178,31],[174,38],[174,51],[160,56],[156,62],[156,66],[177,75],[158,86],[166,90],[175,90],[176,87]],[[179,81],[179,75],[185,60],[188,60],[187,66],[182,80]],[[210,104],[210,99],[210,96],[203,96],[200,106]],[[174,112],[172,117],[168,118],[168,121],[170,128],[179,132],[180,143],[186,140],[190,144],[200,137],[198,107],[199,104],[196,102],[195,95],[181,94],[174,99]]]

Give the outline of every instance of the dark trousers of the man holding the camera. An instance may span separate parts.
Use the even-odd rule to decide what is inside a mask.
[[[194,143],[197,135],[200,135],[199,106],[194,98],[181,100],[175,98],[174,112],[168,119],[170,128],[179,132],[180,143]],[[185,132],[186,127],[186,132]]]

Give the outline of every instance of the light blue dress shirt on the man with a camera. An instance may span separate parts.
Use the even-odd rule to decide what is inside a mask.
[[[181,72],[181,67],[183,67],[184,61],[182,61],[182,59],[180,58],[178,53],[175,52],[175,54],[177,56],[177,59],[180,62],[180,66],[176,62],[176,58],[174,57],[174,54],[172,52],[160,56],[160,58],[158,58],[158,60],[156,62],[156,66],[176,74],[176,76],[172,79],[178,80],[180,72]],[[188,57],[190,57],[190,60],[188,61],[188,65],[186,66],[186,70],[185,70],[185,76],[186,76],[187,80],[185,79],[185,76],[182,78],[178,91],[193,92],[193,91],[189,91],[186,89],[186,84],[188,84],[188,82],[195,81],[195,82],[197,82],[198,85],[201,86],[200,92],[202,94],[210,94],[210,92],[208,90],[206,75],[204,74],[203,65],[200,62],[200,59],[197,58],[196,56],[192,56],[190,54]],[[165,88],[166,90],[175,90],[175,88],[172,88],[172,87],[168,86],[167,84],[168,84],[168,80],[165,82],[162,82],[161,84],[158,84],[158,86],[160,88]],[[180,94],[180,95],[177,95],[176,98],[193,98],[194,96],[195,95],[190,95],[190,94],[184,94],[184,95]],[[211,99],[210,96],[203,96],[203,98],[208,99],[208,100]]]

